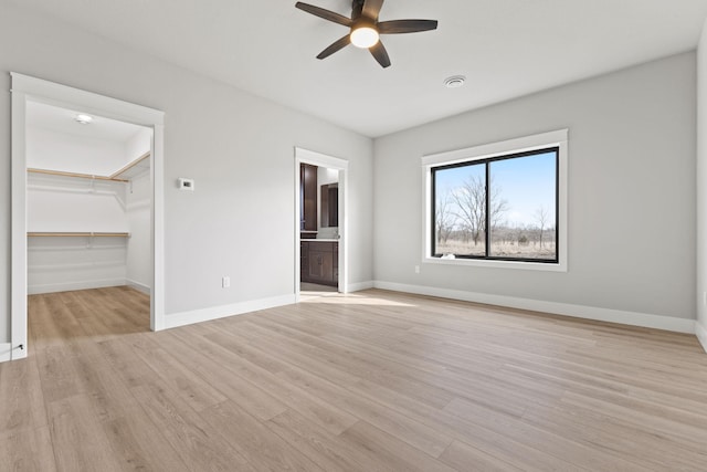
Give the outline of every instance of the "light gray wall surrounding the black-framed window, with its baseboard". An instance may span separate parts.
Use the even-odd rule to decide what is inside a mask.
[[[686,53],[377,139],[377,285],[693,331],[695,91]],[[561,128],[567,273],[422,264],[423,155]]]

